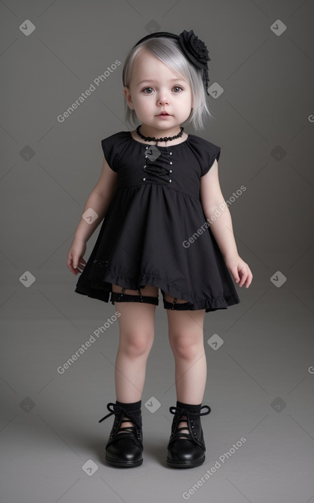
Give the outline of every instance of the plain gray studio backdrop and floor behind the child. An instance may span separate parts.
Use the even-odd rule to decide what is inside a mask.
[[[1,1],[1,503],[314,502],[313,15],[313,0]],[[225,199],[246,187],[229,208],[254,279],[241,304],[205,315],[205,464],[166,465],[176,396],[159,304],[144,464],[121,470],[103,461],[113,417],[98,422],[115,401],[118,323],[57,370],[115,310],[74,293],[66,254],[101,140],[127,130],[127,51],[183,29],[209,49],[214,116],[185,131],[222,148]]]

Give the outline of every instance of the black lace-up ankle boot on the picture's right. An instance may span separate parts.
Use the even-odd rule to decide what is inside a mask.
[[[200,410],[206,407],[207,412]],[[170,440],[168,443],[167,463],[174,468],[191,468],[202,465],[205,461],[205,443],[200,424],[200,416],[211,412],[208,405],[190,405],[176,402],[176,407],[170,407],[170,413],[174,414]],[[187,419],[182,419],[185,416]],[[186,421],[187,426],[178,428],[180,421]],[[189,430],[189,433],[182,433]],[[179,438],[184,437],[184,438]]]

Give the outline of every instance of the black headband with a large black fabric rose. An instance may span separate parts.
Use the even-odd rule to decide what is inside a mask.
[[[210,61],[211,58],[209,58],[205,43],[202,42],[202,40],[200,40],[196,35],[194,35],[194,32],[191,29],[189,32],[184,30],[180,35],[174,35],[173,33],[168,32],[155,32],[151,35],[146,35],[144,38],[141,38],[141,40],[139,40],[134,47],[144,42],[144,40],[157,37],[174,38],[175,40],[179,41],[183,55],[192,64],[194,64],[194,66],[202,69],[202,82],[204,84],[207,95],[209,95],[209,92],[207,90],[209,83],[207,61]]]

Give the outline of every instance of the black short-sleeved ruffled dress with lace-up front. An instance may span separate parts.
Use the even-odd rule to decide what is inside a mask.
[[[112,284],[151,285],[187,300],[191,310],[239,304],[200,202],[200,177],[219,159],[220,147],[194,134],[155,147],[129,131],[101,145],[118,186],[75,292],[108,302]]]

